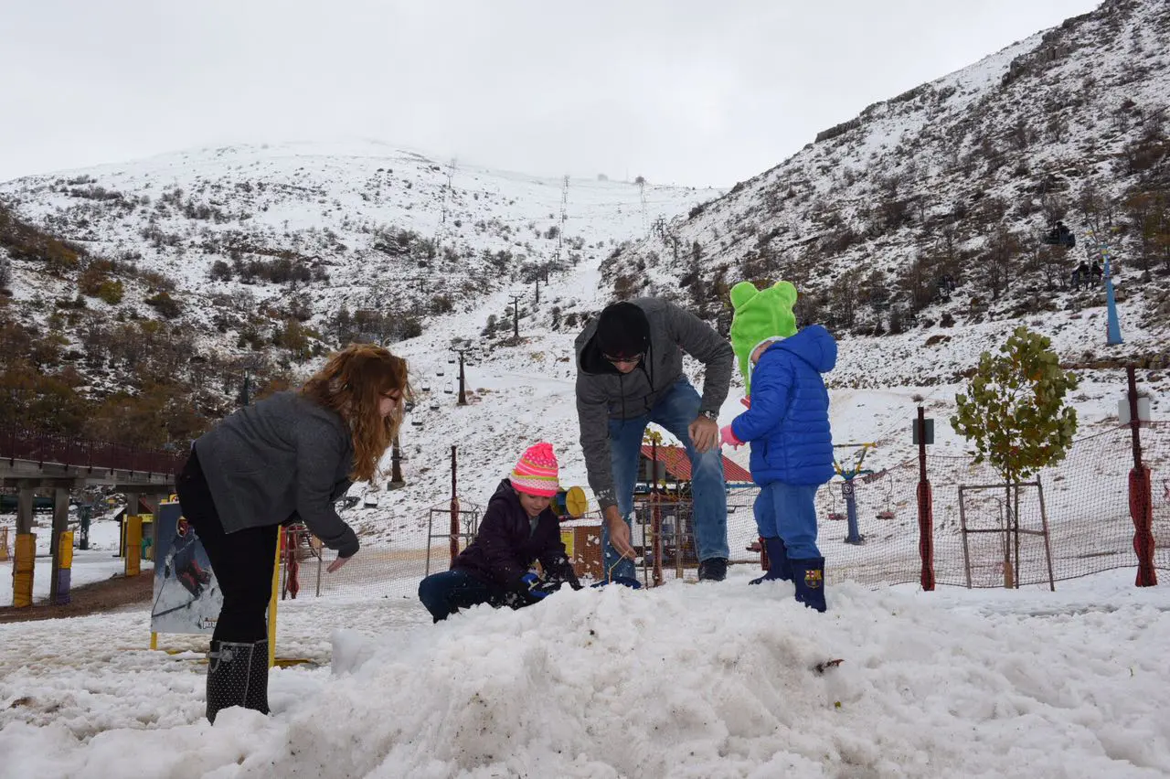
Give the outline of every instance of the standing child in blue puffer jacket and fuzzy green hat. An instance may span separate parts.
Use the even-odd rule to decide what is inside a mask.
[[[828,391],[821,377],[837,364],[837,342],[820,325],[796,330],[789,282],[731,290],[731,344],[748,387],[748,411],[721,441],[751,443],[751,477],[760,490],[755,515],[769,570],[752,584],[791,579],[796,599],[825,605],[825,558],[817,547],[817,489],[833,476]]]

